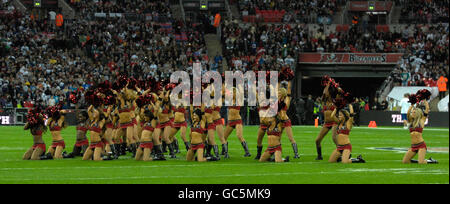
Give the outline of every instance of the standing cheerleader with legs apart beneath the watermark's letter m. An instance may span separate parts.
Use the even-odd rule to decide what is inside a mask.
[[[233,103],[236,104],[236,92],[237,89],[233,88]],[[245,141],[243,134],[243,126],[242,126],[242,118],[240,115],[240,106],[229,106],[228,107],[228,121],[227,126],[225,127],[225,142],[226,145],[228,145],[228,137],[233,132],[233,130],[236,129],[236,136],[238,137],[239,141],[241,142],[242,147],[244,148],[245,154],[244,157],[250,157],[251,154],[248,151],[247,142]]]

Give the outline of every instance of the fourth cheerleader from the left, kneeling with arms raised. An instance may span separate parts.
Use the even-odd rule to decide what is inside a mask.
[[[105,119],[103,118],[100,111],[97,110],[93,105],[89,106],[88,110],[89,115],[89,130],[90,130],[90,139],[91,144],[89,148],[83,155],[83,160],[94,160],[101,161],[102,152],[103,152],[103,141],[101,138],[103,132],[103,126],[105,125]]]

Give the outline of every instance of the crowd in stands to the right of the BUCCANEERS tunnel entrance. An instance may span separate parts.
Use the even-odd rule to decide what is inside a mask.
[[[413,26],[413,25],[412,25]],[[398,65],[386,79],[397,86],[437,86],[440,76],[449,74],[448,25],[413,26],[404,29],[408,47]]]

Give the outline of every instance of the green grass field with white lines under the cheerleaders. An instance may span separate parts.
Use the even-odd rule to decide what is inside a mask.
[[[408,130],[401,127],[354,128],[350,135],[353,157],[359,154],[365,164],[330,164],[328,156],[334,144],[331,134],[323,141],[324,161],[315,161],[314,139],[319,128],[299,126],[294,135],[300,159],[289,163],[259,163],[256,154],[257,126],[244,127],[244,137],[252,153],[243,157],[237,137],[229,138],[230,159],[218,162],[187,162],[180,145],[177,159],[168,161],[134,161],[129,155],[114,161],[82,161],[81,158],[46,161],[23,161],[22,155],[32,145],[32,137],[22,127],[0,127],[0,183],[157,183],[157,184],[309,184],[309,183],[449,183],[449,129],[426,128],[424,139],[439,164],[402,164],[403,149],[410,146]],[[72,151],[75,127],[62,131],[66,151]],[[47,146],[50,133],[44,135]],[[293,156],[283,135],[283,156]],[[181,141],[181,140],[180,140]],[[264,145],[267,147],[266,138]],[[400,148],[384,149],[376,148]],[[417,158],[417,157],[416,157]]]

